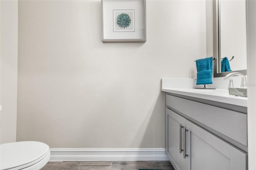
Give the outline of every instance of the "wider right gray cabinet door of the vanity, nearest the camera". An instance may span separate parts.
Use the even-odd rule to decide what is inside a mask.
[[[186,120],[186,170],[246,170],[247,154]]]

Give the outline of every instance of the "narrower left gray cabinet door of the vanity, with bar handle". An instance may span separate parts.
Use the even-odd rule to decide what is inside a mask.
[[[185,159],[183,152],[180,153],[180,141],[183,149],[183,130],[181,128],[180,139],[180,125],[185,126],[185,119],[174,113],[170,109],[165,109],[165,151],[170,159],[172,166],[176,170],[185,170]]]

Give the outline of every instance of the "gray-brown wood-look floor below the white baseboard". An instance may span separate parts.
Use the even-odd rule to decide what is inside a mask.
[[[164,162],[48,162],[42,170],[174,170]]]

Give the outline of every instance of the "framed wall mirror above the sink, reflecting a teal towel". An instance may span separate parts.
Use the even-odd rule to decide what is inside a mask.
[[[231,72],[240,72],[246,75],[245,1],[213,1],[213,55],[216,58],[214,60],[214,77],[224,77]]]

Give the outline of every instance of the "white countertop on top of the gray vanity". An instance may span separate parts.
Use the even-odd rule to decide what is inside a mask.
[[[162,91],[247,107],[247,97],[229,95],[226,89],[162,88]]]

